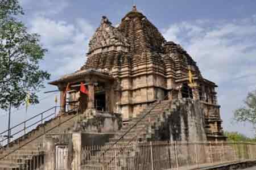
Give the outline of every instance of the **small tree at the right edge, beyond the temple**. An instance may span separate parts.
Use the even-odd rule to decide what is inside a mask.
[[[256,91],[249,92],[244,105],[234,111],[236,122],[247,122],[255,127],[256,125]]]

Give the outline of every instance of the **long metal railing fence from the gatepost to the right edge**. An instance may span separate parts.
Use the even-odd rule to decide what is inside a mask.
[[[131,142],[104,152],[108,147],[85,146],[81,169],[193,169],[256,159],[256,143]]]

